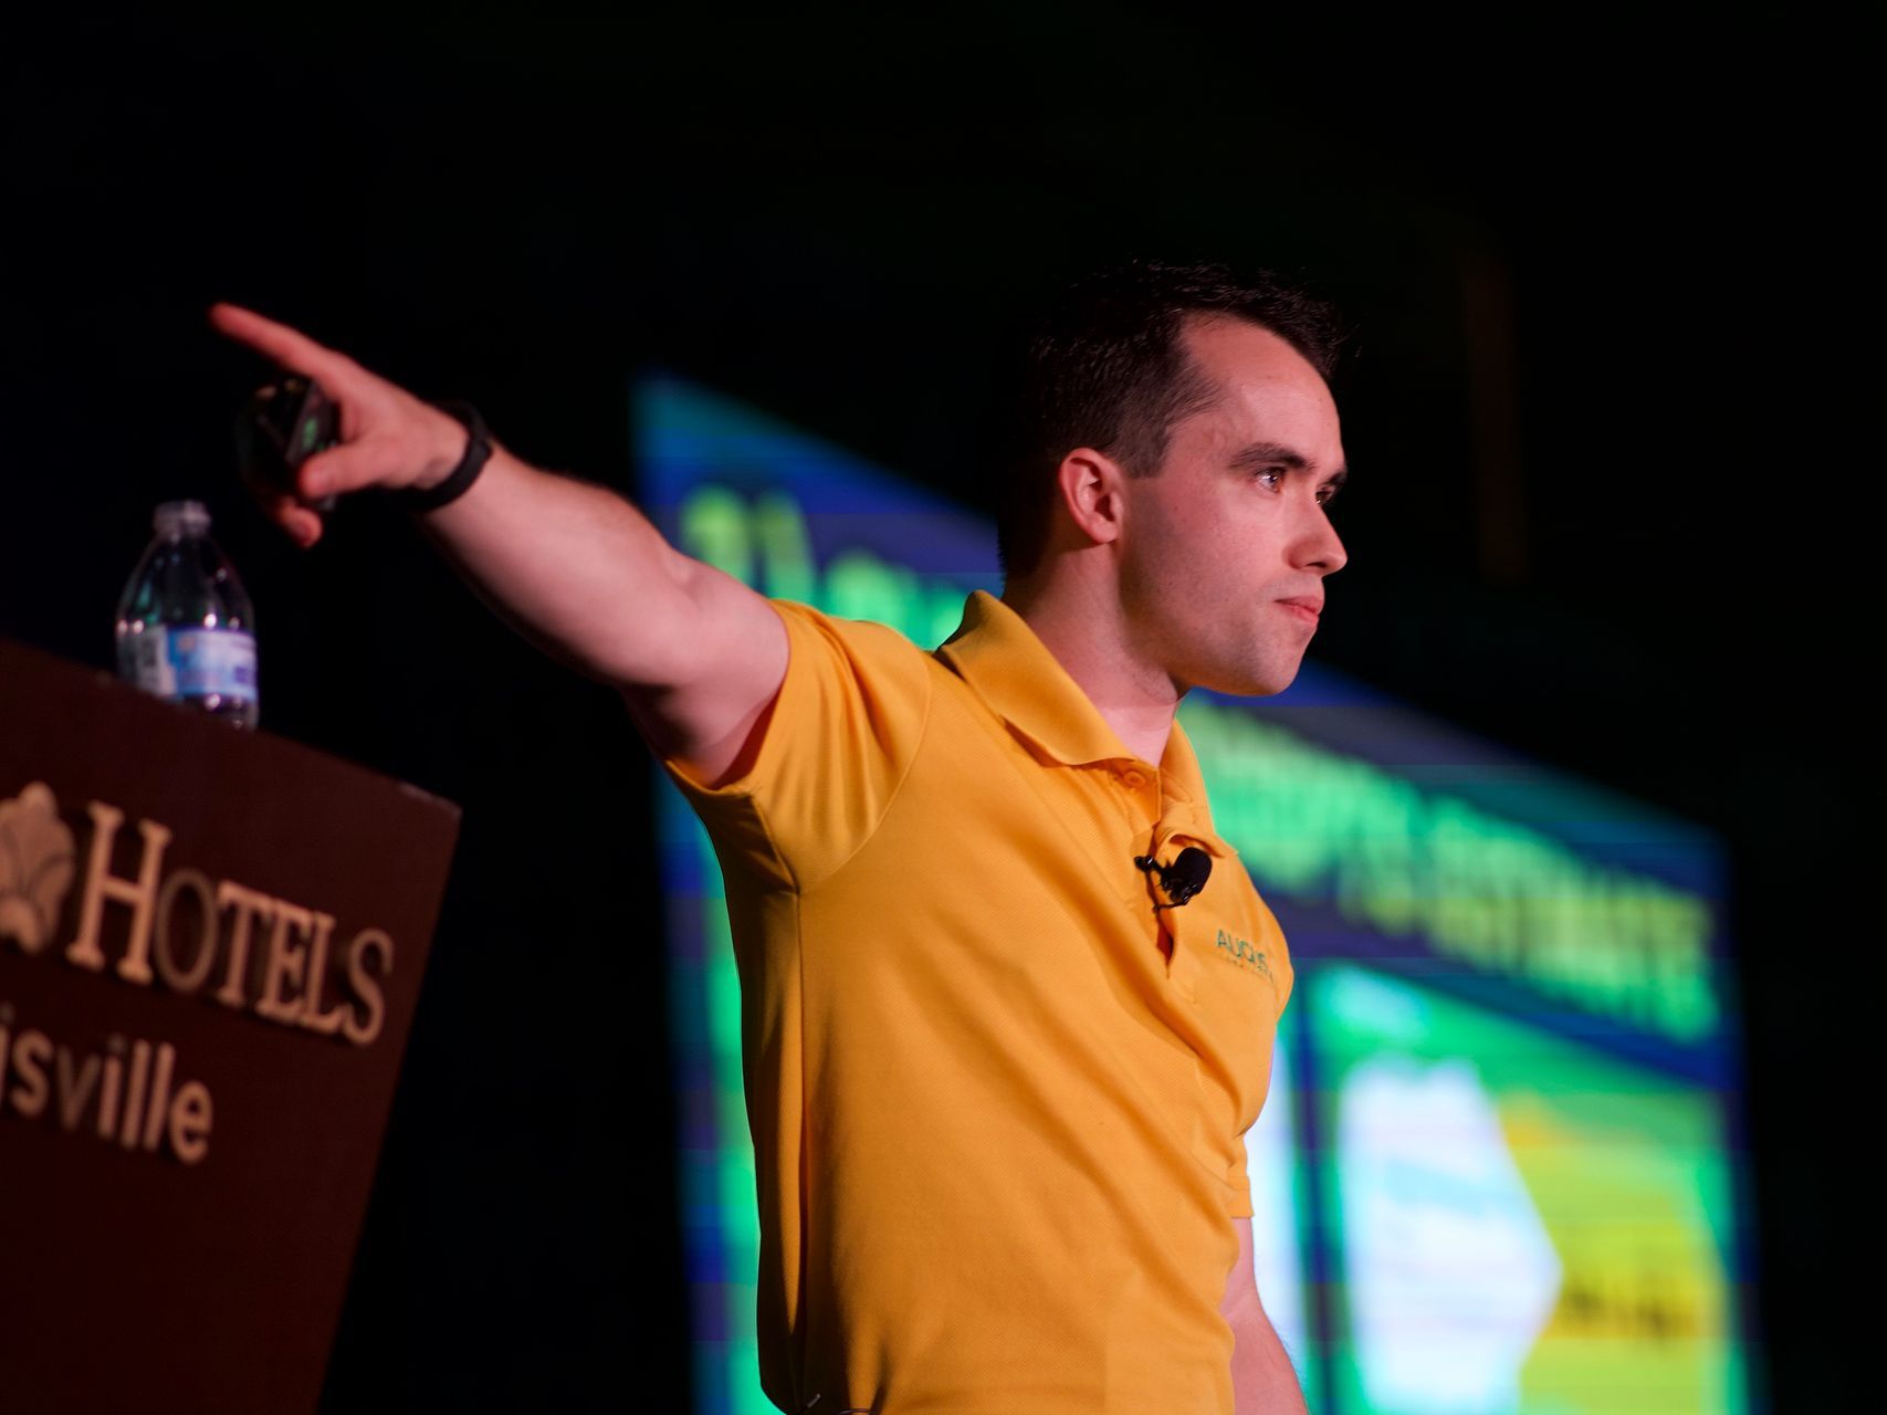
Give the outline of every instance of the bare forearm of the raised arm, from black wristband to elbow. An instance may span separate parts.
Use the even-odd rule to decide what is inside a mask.
[[[660,681],[696,570],[625,498],[494,445],[472,489],[417,517],[506,623],[610,683]]]

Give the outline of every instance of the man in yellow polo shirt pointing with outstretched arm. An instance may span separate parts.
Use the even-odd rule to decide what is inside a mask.
[[[342,404],[306,502],[464,483],[453,417],[213,321]],[[1217,268],[1076,287],[1019,387],[1002,598],[932,655],[768,602],[502,447],[423,513],[623,692],[715,841],[781,1409],[1304,1409],[1242,1143],[1291,962],[1174,713],[1298,670],[1344,564],[1332,349],[1319,306]],[[268,498],[309,545],[306,502]]]

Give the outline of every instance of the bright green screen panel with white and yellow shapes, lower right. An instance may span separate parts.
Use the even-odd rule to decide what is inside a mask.
[[[1713,1094],[1342,964],[1306,1017],[1340,1409],[1744,1409]]]

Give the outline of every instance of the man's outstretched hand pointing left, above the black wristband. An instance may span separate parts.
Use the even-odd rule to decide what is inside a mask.
[[[291,374],[315,379],[340,409],[340,443],[302,462],[296,494],[243,475],[264,515],[304,549],[321,540],[321,515],[308,502],[362,487],[430,487],[464,455],[466,430],[451,413],[370,374],[347,355],[232,304],[211,306],[209,323]]]

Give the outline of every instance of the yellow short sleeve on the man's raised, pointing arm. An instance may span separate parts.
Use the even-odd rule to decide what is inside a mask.
[[[870,840],[910,770],[930,711],[930,657],[883,624],[770,600],[787,675],[745,774],[704,787],[660,758],[723,868],[804,891]]]

